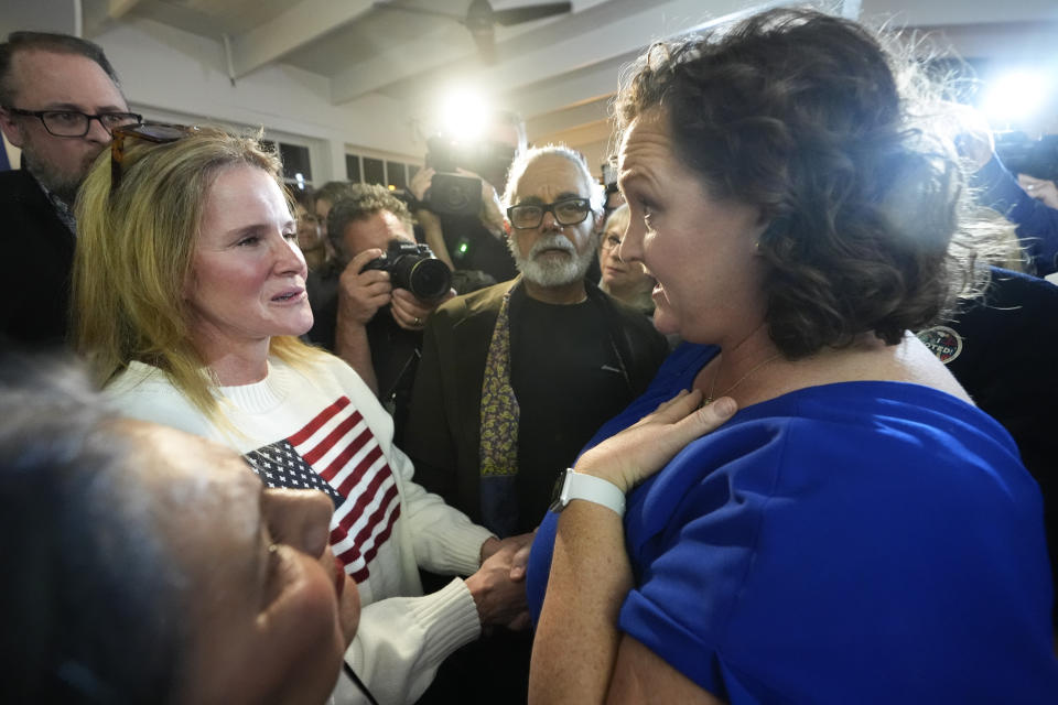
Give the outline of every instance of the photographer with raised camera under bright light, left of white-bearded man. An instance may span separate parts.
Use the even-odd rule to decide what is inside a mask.
[[[454,270],[484,273],[461,275],[460,281],[467,282],[457,284],[461,294],[518,273],[507,249],[497,191],[503,191],[507,170],[526,143],[525,122],[505,110],[492,113],[479,141],[428,140],[427,165],[408,188],[423,239],[438,258]]]

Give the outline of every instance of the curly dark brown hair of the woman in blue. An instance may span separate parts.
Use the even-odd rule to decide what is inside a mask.
[[[967,204],[954,150],[902,96],[904,65],[863,26],[764,12],[656,44],[617,98],[620,131],[660,109],[673,153],[711,194],[770,225],[766,321],[788,358],[932,323],[972,280],[956,242]],[[936,105],[936,104],[932,104]]]

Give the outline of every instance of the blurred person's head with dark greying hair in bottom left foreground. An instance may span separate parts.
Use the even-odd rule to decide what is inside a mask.
[[[332,506],[0,360],[0,701],[324,703],[356,632]]]

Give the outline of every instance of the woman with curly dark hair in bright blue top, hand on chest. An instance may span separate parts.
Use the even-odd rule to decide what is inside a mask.
[[[1058,701],[1039,489],[908,333],[972,250],[904,68],[781,10],[619,94],[620,256],[688,344],[540,527],[531,703]]]

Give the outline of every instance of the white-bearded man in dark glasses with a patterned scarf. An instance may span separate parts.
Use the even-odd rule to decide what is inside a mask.
[[[559,471],[639,395],[667,352],[646,316],[585,279],[603,208],[579,152],[523,152],[504,200],[520,276],[430,316],[404,431],[415,480],[500,538],[537,527]],[[512,690],[462,702],[526,702],[530,639],[497,633],[476,649],[475,682]],[[464,697],[466,682],[454,693]]]

